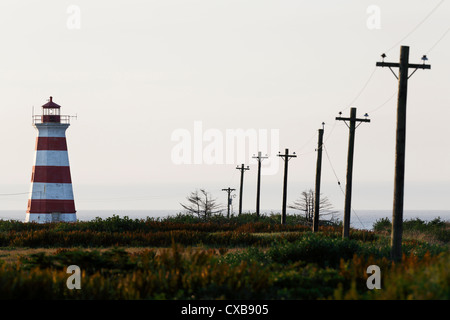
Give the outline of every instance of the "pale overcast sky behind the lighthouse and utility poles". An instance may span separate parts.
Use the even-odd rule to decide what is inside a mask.
[[[32,108],[40,113],[49,96],[77,115],[67,141],[79,212],[179,209],[196,188],[225,204],[221,189],[239,189],[241,162],[195,164],[194,145],[210,151],[194,141],[196,123],[202,139],[275,134],[259,137],[271,157],[263,163],[277,168],[262,177],[261,206],[280,210],[276,153],[298,155],[289,162],[290,203],[314,188],[325,122],[331,162],[324,153],[322,192],[342,209],[332,166],[345,188],[348,129],[335,117],[351,106],[371,119],[356,131],[353,207],[390,209],[397,80],[375,63],[382,53],[398,62],[400,45],[410,46],[411,63],[427,54],[431,64],[409,80],[405,209],[449,209],[449,18],[449,1],[437,0],[3,0],[0,210],[26,210],[27,194],[6,194],[29,191]],[[191,135],[191,164],[174,160],[187,141],[173,140],[180,132]],[[215,150],[224,159],[225,142]],[[254,210],[257,167],[247,164],[244,210]]]

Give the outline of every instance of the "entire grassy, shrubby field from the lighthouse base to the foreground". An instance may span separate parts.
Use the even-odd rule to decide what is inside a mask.
[[[179,215],[78,223],[0,221],[2,299],[449,299],[450,225],[404,223],[404,257],[389,259],[387,219],[374,231],[312,233],[297,217]],[[81,269],[81,289],[66,282]],[[381,270],[369,290],[367,267]]]

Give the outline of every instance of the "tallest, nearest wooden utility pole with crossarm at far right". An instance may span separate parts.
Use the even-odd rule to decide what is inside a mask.
[[[391,231],[391,259],[399,261],[402,258],[402,233],[403,233],[403,198],[405,184],[405,144],[406,144],[406,99],[408,93],[408,79],[417,69],[431,69],[425,64],[428,60],[424,55],[423,64],[409,63],[409,47],[401,46],[400,63],[384,62],[386,55],[381,55],[382,62],[377,62],[377,67],[389,67],[394,76],[398,79],[397,96],[397,133],[395,145],[395,175],[394,175],[394,204],[392,210],[392,231]],[[398,76],[392,68],[399,68]],[[409,74],[409,69],[414,71]]]

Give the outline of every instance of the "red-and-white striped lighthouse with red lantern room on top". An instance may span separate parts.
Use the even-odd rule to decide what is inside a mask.
[[[70,116],[61,115],[60,110],[50,97],[42,115],[33,115],[38,136],[25,222],[77,220],[66,142]]]

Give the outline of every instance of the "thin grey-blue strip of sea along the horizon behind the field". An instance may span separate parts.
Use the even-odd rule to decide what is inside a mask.
[[[89,221],[100,217],[106,219],[113,215],[119,217],[129,217],[130,219],[165,218],[180,213],[180,210],[79,210],[77,219]],[[246,212],[243,210],[243,212]],[[262,210],[262,214],[277,213],[279,210]],[[236,213],[234,213],[236,214]],[[287,214],[298,214],[298,211],[287,211]],[[25,210],[0,210],[0,220],[25,221]],[[343,211],[338,211],[335,217],[343,220]],[[373,224],[382,218],[392,220],[392,210],[358,210],[352,211],[350,225],[355,229],[372,230]],[[450,221],[450,210],[404,210],[403,219],[410,220],[419,218],[424,221],[431,221],[440,218],[443,221]]]

